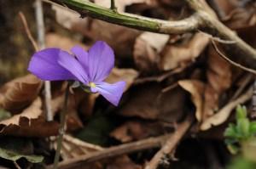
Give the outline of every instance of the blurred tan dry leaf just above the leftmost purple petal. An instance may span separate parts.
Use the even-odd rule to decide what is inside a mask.
[[[49,33],[45,37],[45,43],[47,48],[61,48],[66,51],[70,51],[75,45],[79,45],[84,49],[88,50],[89,47],[85,46],[83,43],[74,41],[68,37],[62,37],[55,33]]]

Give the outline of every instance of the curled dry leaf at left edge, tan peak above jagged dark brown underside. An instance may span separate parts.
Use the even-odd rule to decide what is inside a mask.
[[[0,121],[0,135],[15,135],[25,137],[48,137],[56,135],[58,123],[45,121],[42,115],[42,101],[35,99],[33,103],[19,115]]]

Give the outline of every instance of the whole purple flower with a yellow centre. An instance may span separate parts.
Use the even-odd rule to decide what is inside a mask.
[[[33,54],[28,70],[44,81],[74,80],[90,87],[92,93],[101,93],[114,105],[119,104],[125,82],[103,82],[113,69],[113,50],[106,42],[96,42],[87,52],[79,46],[73,54],[60,48],[46,48]]]

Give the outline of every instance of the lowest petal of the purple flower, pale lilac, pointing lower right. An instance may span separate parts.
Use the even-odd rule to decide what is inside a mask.
[[[96,83],[97,92],[107,99],[111,104],[117,106],[125,90],[125,82],[120,81],[113,84],[107,82]]]

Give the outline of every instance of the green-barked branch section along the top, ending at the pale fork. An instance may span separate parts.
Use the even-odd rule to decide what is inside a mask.
[[[184,20],[166,21],[143,17],[137,14],[119,13],[111,8],[104,8],[96,3],[84,0],[53,0],[55,3],[66,5],[79,12],[81,17],[90,16],[97,20],[104,20],[116,25],[124,25],[142,31],[153,31],[166,34],[180,34],[196,31],[200,18],[197,14]]]

